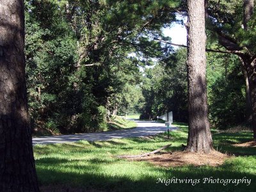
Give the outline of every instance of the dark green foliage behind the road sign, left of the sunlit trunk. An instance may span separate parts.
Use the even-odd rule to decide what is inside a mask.
[[[156,118],[166,111],[173,111],[173,118],[188,120],[186,81],[186,49],[178,49],[156,64],[145,69],[143,96],[145,106],[141,118]]]

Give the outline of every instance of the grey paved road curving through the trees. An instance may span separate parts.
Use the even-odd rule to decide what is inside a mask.
[[[159,134],[166,131],[164,124],[159,124],[152,121],[136,121],[137,127],[134,129],[109,131],[109,132],[93,132],[83,134],[70,134],[61,136],[44,136],[39,138],[33,138],[33,145],[35,144],[50,144],[50,143],[67,143],[76,142],[79,140],[86,141],[100,141],[111,140],[113,138],[133,138],[148,136],[152,134]],[[170,127],[171,130],[177,129],[177,127]]]

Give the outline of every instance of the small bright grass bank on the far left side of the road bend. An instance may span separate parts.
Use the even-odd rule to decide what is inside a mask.
[[[112,115],[111,122],[108,122],[108,129],[104,131],[115,131],[122,129],[132,129],[137,126],[136,122],[125,120],[121,116]]]

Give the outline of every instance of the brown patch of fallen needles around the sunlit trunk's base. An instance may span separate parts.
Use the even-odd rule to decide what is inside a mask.
[[[221,154],[217,151],[212,151],[209,154],[200,154],[195,152],[178,151],[172,153],[165,153],[147,157],[134,158],[135,161],[148,161],[157,166],[184,166],[192,164],[194,166],[219,166],[224,163],[226,159],[230,158],[227,154]]]

